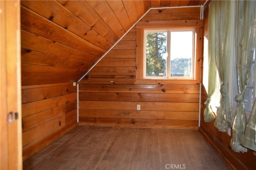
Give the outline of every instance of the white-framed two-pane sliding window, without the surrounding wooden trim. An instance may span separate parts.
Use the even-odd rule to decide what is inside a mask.
[[[145,29],[144,42],[144,78],[194,79],[195,29]]]

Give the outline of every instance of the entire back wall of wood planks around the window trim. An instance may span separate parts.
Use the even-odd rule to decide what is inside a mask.
[[[186,11],[152,10],[142,20],[200,19],[200,8]],[[136,27],[80,82],[79,124],[198,129],[199,84],[135,84],[135,71]]]

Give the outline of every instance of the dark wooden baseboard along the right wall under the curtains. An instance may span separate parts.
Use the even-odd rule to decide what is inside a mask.
[[[224,147],[222,143],[218,139],[216,139],[216,137],[214,137],[207,131],[204,131],[201,127],[199,127],[198,130],[231,170],[248,169],[244,164],[242,164],[242,162],[240,162],[238,158],[236,158],[230,152],[230,150]]]

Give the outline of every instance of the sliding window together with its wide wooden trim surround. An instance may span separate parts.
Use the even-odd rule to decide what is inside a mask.
[[[136,84],[201,83],[203,20],[140,21],[136,32]]]

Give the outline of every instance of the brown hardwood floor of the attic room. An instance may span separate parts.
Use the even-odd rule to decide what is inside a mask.
[[[197,130],[78,126],[24,170],[227,170]]]

